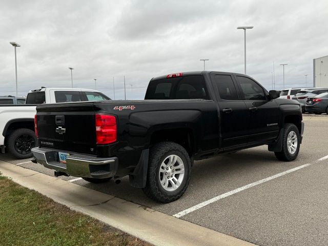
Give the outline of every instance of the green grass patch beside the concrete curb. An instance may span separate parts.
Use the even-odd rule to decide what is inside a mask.
[[[150,245],[0,176],[1,245]]]

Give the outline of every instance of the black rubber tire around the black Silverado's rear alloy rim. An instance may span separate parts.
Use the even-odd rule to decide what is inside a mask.
[[[169,169],[168,171],[169,174],[168,174],[166,173],[166,169],[161,169],[161,165],[166,165],[165,161],[167,160],[168,160],[167,165],[169,165],[169,159],[170,156],[172,155],[177,156],[179,158],[176,157],[177,159],[175,161],[174,159],[172,159],[171,163],[174,162],[173,164],[171,164],[173,166],[173,169]],[[178,174],[179,172],[178,166],[182,167],[181,161],[183,164],[182,166],[184,167],[183,175]],[[176,144],[175,142],[159,142],[158,144],[154,145],[150,149],[147,182],[146,182],[146,187],[143,188],[142,190],[148,197],[150,197],[153,200],[163,203],[175,201],[179,199],[183,195],[183,193],[186,192],[188,188],[190,177],[191,177],[191,167],[192,167],[192,162],[185,148]],[[176,171],[176,173],[174,174],[174,170],[178,170],[178,171]],[[172,177],[170,178],[171,181],[167,179],[166,176],[167,174],[168,177]],[[172,174],[172,176],[170,176],[170,174]],[[172,182],[174,182],[175,185],[177,185],[178,182],[173,181],[174,178],[175,178],[174,180],[179,180],[179,179],[181,180],[179,181],[179,185],[176,188],[176,190],[168,191],[165,190],[165,188],[163,188],[162,185],[160,184],[160,178],[162,178],[163,180],[166,179],[166,182],[168,183],[167,189],[175,189],[172,185]]]

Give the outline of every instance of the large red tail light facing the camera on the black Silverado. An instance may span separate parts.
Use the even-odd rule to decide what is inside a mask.
[[[107,145],[116,141],[116,118],[113,115],[96,114],[97,145]]]

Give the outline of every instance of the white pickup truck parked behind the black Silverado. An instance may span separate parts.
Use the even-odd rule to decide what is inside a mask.
[[[36,105],[70,101],[100,101],[110,98],[96,90],[78,88],[42,88],[27,94],[25,105],[0,105],[0,152],[19,159],[32,157],[36,147],[34,115]]]

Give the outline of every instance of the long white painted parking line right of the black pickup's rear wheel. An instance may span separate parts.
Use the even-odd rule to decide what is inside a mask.
[[[251,188],[251,187],[253,187],[253,186],[260,185],[261,183],[267,182],[267,181],[269,181],[269,180],[272,180],[272,179],[278,178],[278,177],[283,176],[283,175],[286,175],[286,174],[288,174],[288,173],[295,172],[295,171],[300,170],[300,169],[305,168],[305,167],[309,167],[309,166],[311,166],[311,165],[313,165],[313,164],[315,164],[315,163],[317,163],[317,162],[319,162],[319,161],[325,160],[325,159],[328,159],[328,155],[326,155],[326,156],[324,156],[324,157],[322,157],[322,158],[320,158],[320,159],[317,159],[316,161],[314,161],[314,162],[312,162],[312,163],[304,164],[304,165],[302,165],[302,166],[299,166],[299,167],[296,167],[296,168],[293,168],[293,169],[290,169],[290,170],[287,170],[287,171],[284,171],[284,172],[281,172],[281,173],[275,174],[275,175],[270,176],[270,177],[268,177],[268,178],[263,178],[263,179],[258,180],[258,181],[256,181],[256,182],[250,183],[249,185],[245,185],[245,186],[243,186],[243,187],[239,187],[239,188],[237,188],[237,189],[235,189],[235,190],[229,191],[229,192],[224,193],[224,194],[222,194],[222,195],[219,195],[219,196],[213,197],[212,199],[209,199],[209,200],[207,200],[207,201],[203,201],[203,202],[201,202],[201,203],[199,203],[199,204],[197,204],[197,205],[195,205],[195,206],[193,206],[193,207],[191,207],[191,208],[189,208],[189,209],[186,209],[186,210],[183,210],[183,211],[181,211],[181,212],[179,212],[179,213],[177,213],[177,214],[174,214],[173,217],[180,218],[180,217],[183,216],[183,215],[189,214],[189,213],[191,213],[191,212],[193,212],[193,211],[195,211],[195,210],[198,210],[198,209],[200,209],[200,208],[203,208],[203,207],[205,207],[205,206],[207,206],[207,205],[209,205],[209,204],[211,204],[211,203],[213,203],[213,202],[215,202],[215,201],[218,201],[218,200],[220,200],[220,199],[223,199],[224,197],[231,196],[231,195],[236,194],[236,193],[238,193],[238,192],[240,192],[240,191],[243,191],[243,190],[249,189],[249,188]]]

